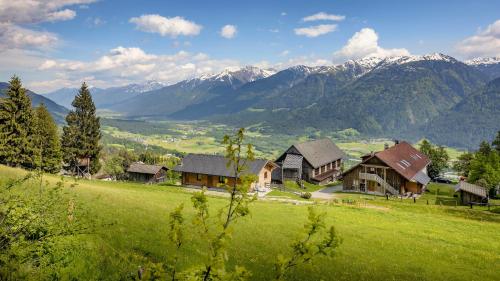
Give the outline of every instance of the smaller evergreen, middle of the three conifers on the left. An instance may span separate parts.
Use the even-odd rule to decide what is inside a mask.
[[[35,109],[35,146],[38,156],[37,167],[49,173],[57,173],[61,169],[61,142],[57,125],[47,107],[41,104]]]

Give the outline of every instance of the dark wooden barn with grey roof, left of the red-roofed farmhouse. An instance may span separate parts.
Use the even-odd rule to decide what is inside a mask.
[[[305,180],[325,184],[341,175],[345,154],[330,139],[294,144],[277,160],[279,169],[273,173],[273,181]]]

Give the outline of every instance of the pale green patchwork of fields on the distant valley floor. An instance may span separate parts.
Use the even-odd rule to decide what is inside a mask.
[[[224,148],[220,141],[224,134],[232,132],[233,128],[209,124],[207,122],[169,122],[169,121],[131,121],[104,119],[104,134],[118,139],[124,139],[143,145],[153,145],[166,150],[182,153],[221,153]],[[348,131],[348,132],[344,132]],[[330,137],[347,154],[346,164],[356,163],[361,155],[371,151],[384,149],[384,144],[392,144],[389,139],[362,139],[350,130],[334,134],[314,132],[310,135],[292,136],[282,134],[265,134],[257,127],[250,127],[246,137],[254,144],[257,157],[274,159],[290,145],[307,141],[310,138]],[[446,148],[450,161],[456,160],[462,153],[454,148]]]

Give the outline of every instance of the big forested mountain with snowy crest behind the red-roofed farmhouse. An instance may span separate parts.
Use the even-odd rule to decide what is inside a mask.
[[[308,80],[320,80],[315,76],[318,74]],[[307,127],[354,128],[366,135],[395,136],[448,112],[486,81],[482,73],[445,55],[388,58],[338,90],[331,85],[325,87],[329,91],[326,95],[319,87],[321,83],[307,86],[309,81],[304,81],[296,85],[301,90],[295,95],[306,97],[302,106],[243,111],[214,120],[261,124],[288,133],[303,132]]]

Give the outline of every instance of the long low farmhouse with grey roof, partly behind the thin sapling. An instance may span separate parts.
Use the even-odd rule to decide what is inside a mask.
[[[235,181],[234,166],[227,167],[228,159],[219,155],[188,154],[174,171],[182,173],[183,185],[218,187],[227,182]],[[251,184],[251,189],[260,190],[270,187],[271,173],[276,164],[264,159],[247,161],[246,175],[255,175],[257,180]]]

